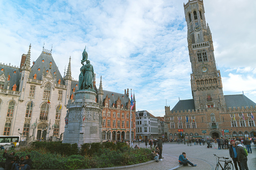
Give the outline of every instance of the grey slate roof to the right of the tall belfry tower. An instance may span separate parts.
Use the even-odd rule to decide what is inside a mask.
[[[241,106],[253,106],[255,108],[256,103],[246,97],[244,94],[224,95],[226,106],[228,107],[241,107]]]

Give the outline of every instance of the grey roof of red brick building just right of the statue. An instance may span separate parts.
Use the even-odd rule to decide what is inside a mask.
[[[121,104],[123,104],[124,108],[126,106],[126,103],[128,103],[130,100],[130,98],[126,94],[116,93],[116,92],[107,91],[107,90],[103,90],[103,93],[104,93],[103,99],[105,99],[107,95],[110,98],[109,107],[112,107],[112,104],[117,101],[118,97],[121,100]]]

